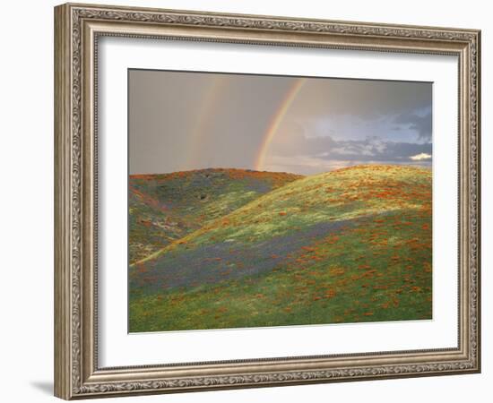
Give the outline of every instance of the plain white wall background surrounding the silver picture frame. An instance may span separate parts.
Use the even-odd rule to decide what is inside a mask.
[[[493,382],[491,313],[493,287],[493,172],[486,158],[493,143],[489,110],[493,107],[493,13],[489,2],[303,0],[125,1],[141,5],[226,13],[256,13],[348,21],[395,22],[477,28],[482,32],[483,110],[483,373],[378,382],[351,382],[256,390],[227,390],[127,398],[125,401],[272,402],[328,400],[405,402],[489,401]],[[52,397],[53,373],[53,9],[56,2],[9,2],[2,7],[0,62],[0,372],[3,401],[43,402]],[[491,182],[491,181],[489,181]],[[115,401],[108,399],[107,401]],[[118,401],[118,400],[117,400]],[[121,400],[123,401],[123,400]]]

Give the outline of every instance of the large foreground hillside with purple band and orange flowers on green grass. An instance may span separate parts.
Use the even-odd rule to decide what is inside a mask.
[[[137,263],[130,285],[131,331],[428,319],[431,172],[284,184]]]

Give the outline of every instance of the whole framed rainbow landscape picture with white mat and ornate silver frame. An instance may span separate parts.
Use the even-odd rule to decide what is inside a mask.
[[[480,372],[480,31],[55,8],[55,394]]]

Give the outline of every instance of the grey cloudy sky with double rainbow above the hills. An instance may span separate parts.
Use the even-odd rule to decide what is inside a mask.
[[[130,174],[431,166],[432,84],[129,72]]]

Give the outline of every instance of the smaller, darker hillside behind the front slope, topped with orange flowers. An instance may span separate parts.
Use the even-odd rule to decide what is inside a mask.
[[[299,177],[242,169],[130,176],[130,263]]]

